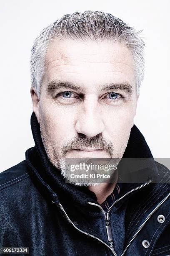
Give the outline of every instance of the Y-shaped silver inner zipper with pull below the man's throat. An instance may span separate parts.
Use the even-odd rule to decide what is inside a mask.
[[[107,238],[108,238],[108,242],[110,247],[112,248],[112,250],[114,251],[113,248],[113,239],[112,239],[112,231],[111,231],[111,226],[110,226],[110,210],[112,209],[112,207],[118,202],[120,201],[122,198],[126,197],[128,194],[130,194],[131,192],[134,192],[135,190],[138,190],[142,187],[145,187],[146,185],[150,184],[152,182],[151,179],[149,179],[147,182],[145,182],[144,184],[141,184],[138,187],[135,187],[134,189],[131,189],[130,191],[128,191],[125,195],[123,195],[122,197],[118,198],[115,202],[112,203],[112,205],[109,207],[109,209],[107,210],[107,212],[105,212],[103,210],[103,208],[100,205],[97,205],[95,203],[92,202],[87,202],[90,205],[95,205],[97,207],[100,208],[100,210],[103,212],[103,214],[105,215],[105,221],[106,221],[106,232],[107,232]],[[116,255],[116,253],[115,253]],[[123,254],[122,254],[123,255]]]

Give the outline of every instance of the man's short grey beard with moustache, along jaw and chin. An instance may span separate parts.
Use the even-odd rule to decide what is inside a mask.
[[[115,176],[117,176],[117,170],[108,170],[107,175],[110,176],[110,179],[100,179],[100,182],[97,182],[97,179],[91,179],[89,177],[82,177],[80,179],[75,179],[70,177],[70,162],[67,160],[66,155],[70,152],[73,148],[103,148],[110,158],[102,159],[104,163],[107,161],[107,164],[118,165],[119,161],[121,160],[125,148],[128,144],[130,133],[127,137],[123,137],[122,143],[119,145],[119,150],[116,150],[113,143],[111,141],[107,141],[101,134],[97,136],[88,138],[82,133],[79,133],[78,136],[72,138],[72,140],[63,143],[62,147],[57,147],[55,141],[52,139],[52,134],[47,133],[48,129],[41,125],[40,123],[40,133],[42,138],[42,143],[44,145],[46,154],[48,159],[58,169],[64,177],[66,183],[71,183],[76,186],[97,186],[101,183],[114,183]],[[96,159],[70,159],[72,163],[78,164],[80,162],[85,162],[85,164],[91,163],[94,164]],[[83,172],[81,172],[82,174]],[[95,174],[103,173],[100,171],[95,172]],[[79,172],[80,174],[80,172]]]

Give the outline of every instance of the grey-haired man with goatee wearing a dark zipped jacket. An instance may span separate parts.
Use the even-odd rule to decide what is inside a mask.
[[[170,172],[134,125],[144,42],[111,14],[65,15],[31,52],[35,146],[0,174],[1,247],[30,255],[170,254]],[[151,159],[143,182],[66,182],[67,159]],[[125,170],[125,169],[123,169]],[[130,173],[128,177],[130,177]],[[24,252],[22,252],[24,254]]]

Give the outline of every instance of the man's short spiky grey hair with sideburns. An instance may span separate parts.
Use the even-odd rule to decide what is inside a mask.
[[[144,76],[143,40],[138,36],[141,31],[135,31],[125,22],[110,13],[101,11],[85,11],[64,15],[51,25],[44,28],[34,41],[31,49],[30,71],[31,86],[40,97],[40,87],[45,74],[47,47],[54,39],[91,39],[113,40],[123,43],[132,53],[137,93]]]

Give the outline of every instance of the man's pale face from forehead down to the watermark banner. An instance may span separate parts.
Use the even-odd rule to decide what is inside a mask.
[[[55,39],[39,100],[32,91],[52,164],[61,169],[65,158],[122,158],[137,99],[133,56],[124,45]]]

